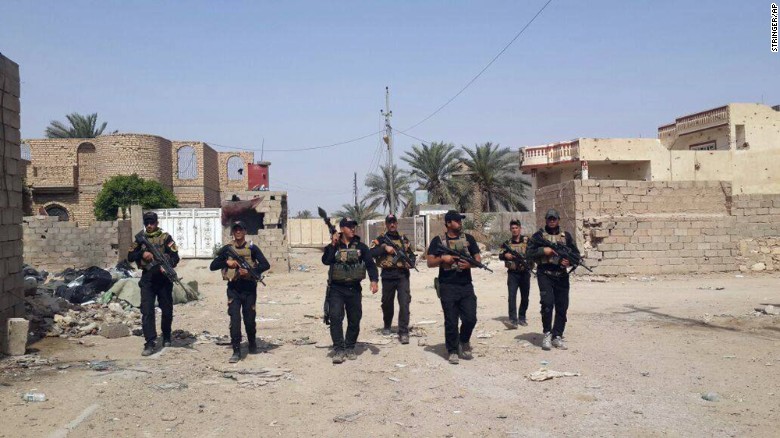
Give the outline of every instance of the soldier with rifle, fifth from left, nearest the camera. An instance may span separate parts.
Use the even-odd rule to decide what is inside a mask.
[[[447,231],[431,240],[428,247],[428,267],[439,268],[438,293],[444,311],[444,338],[448,359],[451,364],[459,362],[458,357],[469,360],[471,353],[471,332],[477,325],[477,296],[471,282],[471,265],[457,257],[441,254],[439,244],[461,252],[467,252],[481,262],[477,241],[470,234],[462,232],[462,214],[450,210],[444,215]],[[460,319],[460,333],[458,333]]]

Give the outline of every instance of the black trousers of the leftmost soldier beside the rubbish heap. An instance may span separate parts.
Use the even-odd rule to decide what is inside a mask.
[[[160,328],[163,339],[171,339],[171,325],[173,324],[173,283],[162,276],[141,278],[138,283],[141,287],[141,326],[146,343],[150,344],[157,339],[157,323],[154,314],[154,301],[162,311]]]

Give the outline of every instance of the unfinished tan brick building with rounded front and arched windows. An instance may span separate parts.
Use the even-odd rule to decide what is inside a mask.
[[[95,197],[114,175],[159,181],[181,207],[218,208],[223,192],[247,188],[245,169],[254,159],[252,152],[217,152],[204,142],[146,134],[25,140],[22,155],[33,211],[79,226],[95,221]]]

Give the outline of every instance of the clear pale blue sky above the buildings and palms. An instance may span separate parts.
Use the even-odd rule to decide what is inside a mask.
[[[258,150],[264,138],[283,150],[378,131],[385,86],[393,125],[417,123],[545,2],[5,0],[0,51],[20,64],[24,137],[98,112],[108,130]],[[553,0],[409,133],[516,149],[655,137],[675,117],[728,102],[780,104],[770,3]],[[397,162],[419,143],[395,141]],[[360,185],[379,151],[374,136],[263,158],[294,214],[351,202],[353,172]]]

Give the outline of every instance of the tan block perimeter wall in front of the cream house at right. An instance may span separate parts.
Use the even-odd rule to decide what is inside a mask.
[[[558,208],[598,274],[734,271],[759,262],[774,270],[780,194],[731,190],[717,181],[569,181],[537,191],[537,221]]]

